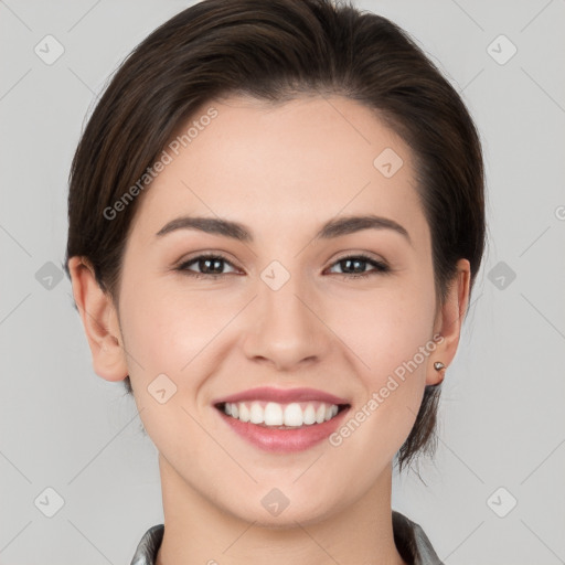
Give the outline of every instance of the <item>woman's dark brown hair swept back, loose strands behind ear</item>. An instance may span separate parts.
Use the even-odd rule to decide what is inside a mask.
[[[110,220],[105,210],[147,174],[180,125],[204,103],[232,94],[273,103],[335,94],[374,109],[415,156],[438,303],[459,258],[470,262],[472,288],[486,237],[483,163],[472,119],[406,32],[330,0],[204,0],[134,50],[99,99],[73,159],[68,276],[68,258],[86,257],[100,288],[118,303],[139,199]],[[131,393],[129,375],[125,385]],[[435,449],[439,392],[425,390],[398,451],[401,471],[416,454]]]

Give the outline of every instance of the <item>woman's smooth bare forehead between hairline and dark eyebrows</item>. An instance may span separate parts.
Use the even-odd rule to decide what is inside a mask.
[[[425,228],[409,148],[375,111],[348,98],[211,100],[166,152],[168,164],[140,196],[134,221],[147,242],[182,214],[233,218],[259,235],[361,213]]]

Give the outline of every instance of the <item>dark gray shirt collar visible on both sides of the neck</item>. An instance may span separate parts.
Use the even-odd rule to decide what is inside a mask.
[[[163,533],[164,524],[150,527],[141,537],[131,565],[154,565]],[[408,565],[444,565],[424,530],[395,510],[393,510],[393,533],[398,553]]]

